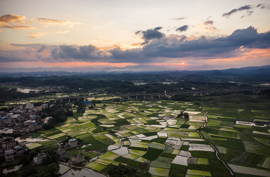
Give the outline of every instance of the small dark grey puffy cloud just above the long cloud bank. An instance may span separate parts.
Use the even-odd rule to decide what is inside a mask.
[[[147,44],[149,40],[152,39],[160,39],[164,36],[164,34],[158,30],[162,29],[162,27],[156,27],[154,29],[147,29],[146,31],[138,30],[135,32],[136,35],[141,34],[144,42],[141,45]]]

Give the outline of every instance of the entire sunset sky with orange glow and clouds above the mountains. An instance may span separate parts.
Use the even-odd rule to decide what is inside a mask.
[[[0,0],[0,67],[270,64],[270,0]]]

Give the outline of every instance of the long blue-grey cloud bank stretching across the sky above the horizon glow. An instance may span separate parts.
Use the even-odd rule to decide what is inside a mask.
[[[209,27],[210,28],[210,27]],[[212,28],[212,27],[211,27]],[[161,28],[151,29],[157,31]],[[147,31],[147,30],[146,30]],[[145,31],[145,32],[146,32]],[[159,32],[159,31],[158,31]],[[142,34],[142,31],[138,32]],[[147,38],[148,35],[145,37]],[[109,62],[109,63],[157,63],[176,62],[179,59],[228,59],[243,55],[242,49],[269,49],[270,31],[258,33],[254,27],[237,29],[231,35],[189,39],[185,35],[162,34],[162,37],[147,38],[148,43],[140,48],[122,50],[119,45],[107,51],[93,45],[42,45],[42,44],[10,44],[24,47],[17,51],[0,51],[0,60],[7,58],[15,61],[46,62]],[[30,54],[28,54],[30,53]],[[1,59],[2,57],[2,59]]]

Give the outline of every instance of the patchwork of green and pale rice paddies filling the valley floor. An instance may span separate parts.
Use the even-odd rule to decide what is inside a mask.
[[[56,143],[69,135],[81,144],[68,149],[69,156],[84,153],[93,158],[86,167],[106,174],[121,163],[135,168],[141,177],[231,176],[217,159],[216,149],[236,176],[270,173],[270,129],[235,124],[239,117],[270,120],[270,111],[204,104],[200,108],[174,100],[107,101],[106,105],[97,104],[51,130],[38,131],[38,138],[46,141],[29,146],[57,148]],[[177,118],[181,111],[189,113],[189,120]],[[197,130],[206,122],[206,111],[208,122],[199,131],[202,138]]]

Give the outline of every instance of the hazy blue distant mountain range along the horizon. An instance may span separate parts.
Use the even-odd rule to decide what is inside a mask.
[[[206,68],[204,71],[210,71],[207,69],[209,67],[202,66],[201,68]],[[34,68],[0,68],[0,73],[28,73],[28,72],[113,72],[113,73],[125,73],[125,72],[153,72],[153,71],[183,71],[178,65],[137,65],[137,66],[125,66],[125,67],[115,67],[115,66],[84,66],[84,67],[34,67]],[[248,73],[249,71],[256,71],[258,73],[270,71],[270,65],[266,66],[250,66],[243,68],[230,68],[223,70],[211,70],[213,71],[223,71],[227,73]],[[187,71],[191,72],[192,71]],[[194,71],[196,73],[203,72]]]

